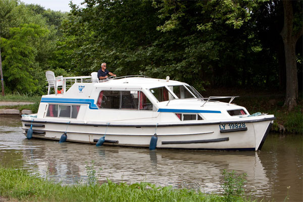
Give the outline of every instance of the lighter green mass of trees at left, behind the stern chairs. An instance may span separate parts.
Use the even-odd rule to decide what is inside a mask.
[[[45,71],[58,68],[53,58],[62,36],[59,27],[67,14],[17,0],[0,0],[0,8],[5,90],[43,94]]]

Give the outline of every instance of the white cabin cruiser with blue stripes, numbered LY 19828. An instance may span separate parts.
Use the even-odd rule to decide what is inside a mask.
[[[60,78],[62,93],[43,95],[37,114],[22,117],[28,137],[118,146],[260,150],[274,115],[251,116],[237,96],[201,96],[167,79],[126,76],[96,81]],[[55,82],[56,84],[56,82]],[[215,99],[228,98],[229,103]],[[29,137],[28,137],[29,138]],[[65,141],[65,140],[63,140]]]

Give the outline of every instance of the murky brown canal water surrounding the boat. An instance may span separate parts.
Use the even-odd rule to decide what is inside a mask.
[[[261,151],[200,151],[28,140],[20,117],[0,117],[0,165],[22,168],[62,184],[86,183],[87,166],[98,182],[151,182],[222,193],[223,170],[246,173],[252,198],[303,201],[302,135],[269,134]],[[93,161],[93,162],[92,162]],[[289,189],[288,189],[288,188]]]

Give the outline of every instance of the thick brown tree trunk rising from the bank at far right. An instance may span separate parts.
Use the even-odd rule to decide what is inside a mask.
[[[293,10],[292,1],[283,1],[284,26],[281,36],[284,42],[285,65],[286,65],[286,97],[284,106],[291,111],[297,105],[298,79],[295,60],[295,44],[300,33],[293,33]],[[302,30],[301,30],[302,31]]]

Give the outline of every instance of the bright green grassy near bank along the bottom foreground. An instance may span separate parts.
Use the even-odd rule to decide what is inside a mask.
[[[242,176],[233,172],[224,175],[225,192],[220,196],[144,182],[61,185],[24,170],[0,168],[0,196],[13,201],[251,201],[241,197]]]

